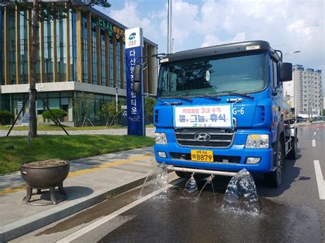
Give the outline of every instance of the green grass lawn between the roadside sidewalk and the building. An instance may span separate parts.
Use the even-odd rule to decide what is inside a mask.
[[[154,145],[141,136],[38,136],[27,146],[25,137],[0,138],[0,175],[19,170],[21,164],[41,159],[78,159]],[[13,148],[12,148],[13,146]]]

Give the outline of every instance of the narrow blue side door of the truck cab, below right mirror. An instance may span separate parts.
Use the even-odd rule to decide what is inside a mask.
[[[272,142],[276,142],[278,136],[278,123],[281,118],[282,84],[278,79],[278,62],[270,59],[271,71],[271,99],[272,99]]]

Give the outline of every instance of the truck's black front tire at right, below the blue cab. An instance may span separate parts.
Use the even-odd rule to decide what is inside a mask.
[[[276,149],[276,155],[273,158],[276,170],[264,173],[264,181],[267,186],[278,188],[281,184],[282,172],[285,170],[285,149],[283,148],[283,142],[280,140],[274,146],[274,149]]]

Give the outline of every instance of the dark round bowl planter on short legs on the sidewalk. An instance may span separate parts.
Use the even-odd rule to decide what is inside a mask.
[[[70,163],[62,159],[49,159],[36,162],[28,162],[21,165],[21,176],[27,184],[27,196],[23,203],[32,205],[57,204],[67,199],[67,194],[63,189],[63,181],[67,178],[70,170]],[[56,187],[59,193],[64,195],[63,199],[56,199]],[[51,195],[50,203],[31,203],[30,199],[34,195],[32,190],[36,189],[37,194],[41,190],[49,189]]]

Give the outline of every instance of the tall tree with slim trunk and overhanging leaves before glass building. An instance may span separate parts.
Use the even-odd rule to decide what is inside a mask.
[[[104,8],[109,8],[110,3],[108,0],[83,0],[86,5],[99,5]],[[28,0],[3,0],[0,5],[7,5],[9,3],[21,4],[23,6],[29,6]],[[33,0],[33,19],[32,23],[32,53],[37,53],[37,38],[38,38],[38,22],[44,21],[45,19],[51,18],[66,18],[61,11],[56,11],[56,4],[50,3],[51,8],[47,11],[46,15],[44,12],[40,14],[40,3],[47,5],[46,1]],[[61,8],[58,8],[61,9]],[[30,65],[30,83],[29,83],[29,136],[30,138],[37,137],[37,117],[36,117],[36,55],[32,55],[31,65]]]

